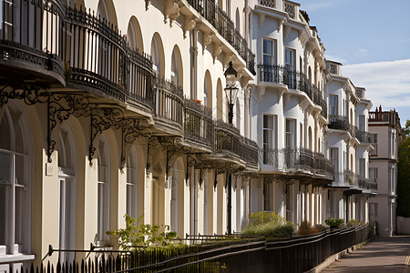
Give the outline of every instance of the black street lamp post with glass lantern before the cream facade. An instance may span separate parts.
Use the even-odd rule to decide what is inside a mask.
[[[229,124],[233,122],[233,104],[235,103],[236,96],[238,96],[238,88],[236,85],[236,79],[238,76],[238,71],[232,66],[232,62],[230,62],[230,66],[225,70],[225,78],[226,78],[226,87],[225,87],[225,94],[228,101],[228,121]],[[228,195],[228,234],[232,233],[232,175],[226,175],[227,179],[227,195]]]

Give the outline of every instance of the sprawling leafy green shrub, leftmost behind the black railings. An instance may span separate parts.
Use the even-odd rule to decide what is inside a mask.
[[[124,217],[126,228],[107,231],[108,235],[118,238],[118,245],[121,249],[130,250],[136,247],[167,246],[172,244],[172,238],[177,237],[176,232],[169,231],[169,226],[165,226],[165,231],[159,233],[158,225],[139,224],[144,222],[144,216],[140,216],[138,222],[134,217],[130,217],[127,214]]]

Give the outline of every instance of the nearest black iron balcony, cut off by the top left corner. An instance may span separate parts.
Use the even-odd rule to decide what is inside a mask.
[[[66,1],[20,2],[0,2],[0,75],[63,84]]]

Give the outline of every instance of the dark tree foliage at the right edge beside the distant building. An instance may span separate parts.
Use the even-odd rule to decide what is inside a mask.
[[[410,120],[405,123],[410,126]],[[410,217],[410,137],[398,147],[397,215]]]

